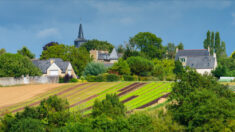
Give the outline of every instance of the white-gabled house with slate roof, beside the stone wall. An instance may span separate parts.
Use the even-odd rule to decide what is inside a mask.
[[[51,58],[48,60],[33,60],[32,62],[42,71],[43,76],[64,77],[68,74],[74,78],[77,77],[69,61],[63,61],[60,58]]]

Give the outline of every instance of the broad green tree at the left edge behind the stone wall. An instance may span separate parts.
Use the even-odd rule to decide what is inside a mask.
[[[0,77],[39,76],[41,71],[28,57],[5,53],[0,56]]]

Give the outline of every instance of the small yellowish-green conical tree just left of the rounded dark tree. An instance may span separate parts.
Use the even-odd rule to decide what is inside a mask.
[[[119,59],[109,70],[120,75],[129,75],[131,73],[129,65],[123,59]]]

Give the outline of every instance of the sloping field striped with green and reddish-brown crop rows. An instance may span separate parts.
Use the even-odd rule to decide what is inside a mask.
[[[108,93],[119,95],[120,100],[124,102],[128,111],[137,108],[149,109],[157,103],[156,99],[171,91],[171,85],[172,82],[73,83],[55,88],[25,102],[1,109],[1,111],[15,113],[22,111],[25,106],[36,106],[42,99],[48,98],[51,95],[58,95],[68,100],[71,111],[81,111],[84,114],[88,114],[92,110],[93,102],[96,99],[104,99]],[[154,100],[155,102],[152,102]]]

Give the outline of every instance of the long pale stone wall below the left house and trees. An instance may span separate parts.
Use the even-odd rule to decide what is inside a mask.
[[[1,86],[12,86],[22,84],[45,84],[45,83],[58,83],[58,76],[32,76],[32,77],[2,77],[0,78]]]

